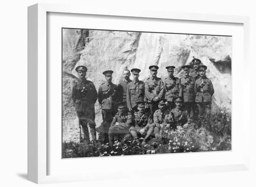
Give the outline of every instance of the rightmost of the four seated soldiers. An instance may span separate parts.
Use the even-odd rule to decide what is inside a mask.
[[[190,124],[189,112],[182,108],[182,97],[175,97],[175,108],[165,117],[166,128],[181,126],[187,128]]]

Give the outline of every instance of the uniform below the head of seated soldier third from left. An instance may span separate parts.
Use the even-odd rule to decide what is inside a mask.
[[[161,129],[165,128],[165,116],[168,115],[168,110],[163,110],[161,111],[160,109],[156,110],[154,113],[154,124],[155,124],[155,128],[154,128],[154,134],[155,134],[155,138],[159,138],[160,137],[160,131]]]

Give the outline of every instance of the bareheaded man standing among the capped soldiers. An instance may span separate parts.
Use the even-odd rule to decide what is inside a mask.
[[[132,80],[130,79],[130,71],[125,69],[123,71],[123,80],[121,80],[119,82],[119,84],[117,85],[118,87],[118,94],[119,94],[119,101],[123,101],[126,102],[126,94],[127,94],[127,85],[132,82]]]

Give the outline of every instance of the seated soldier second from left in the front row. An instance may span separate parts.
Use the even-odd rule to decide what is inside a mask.
[[[136,102],[138,112],[134,113],[135,126],[129,130],[130,134],[139,142],[139,137],[144,137],[142,145],[145,145],[150,135],[153,135],[154,123],[149,111],[145,111],[144,101]]]

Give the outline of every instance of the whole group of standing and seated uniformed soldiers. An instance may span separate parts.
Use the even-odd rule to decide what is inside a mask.
[[[191,65],[182,66],[184,76],[174,77],[175,66],[167,66],[168,77],[164,80],[157,77],[159,67],[149,66],[151,76],[145,82],[139,80],[141,70],[123,71],[123,80],[112,83],[111,70],[104,71],[106,81],[99,87],[98,93],[94,84],[85,76],[85,66],[76,67],[79,78],[74,81],[72,99],[82,127],[84,140],[96,144],[96,124],[94,103],[98,99],[102,120],[97,128],[101,144],[113,144],[115,138],[145,144],[149,137],[162,137],[163,130],[175,129],[177,126],[188,128],[198,116],[211,110],[211,98],[214,88],[206,77],[207,66],[200,59],[194,58]],[[140,142],[140,139],[143,139]]]

